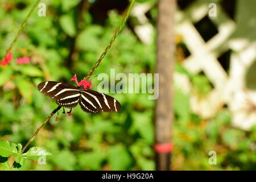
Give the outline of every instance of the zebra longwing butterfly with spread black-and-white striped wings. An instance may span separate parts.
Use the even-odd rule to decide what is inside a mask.
[[[56,81],[44,81],[38,85],[38,90],[53,98],[61,107],[72,109],[77,104],[86,113],[117,112],[121,104],[115,98],[93,90],[84,90],[84,85],[73,86]]]

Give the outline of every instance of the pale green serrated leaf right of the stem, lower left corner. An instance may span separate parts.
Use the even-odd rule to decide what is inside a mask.
[[[38,160],[41,156],[50,156],[51,153],[48,152],[43,147],[32,147],[26,153],[22,154],[27,159]]]

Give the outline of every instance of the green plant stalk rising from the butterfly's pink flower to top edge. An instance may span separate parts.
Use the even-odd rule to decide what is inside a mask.
[[[121,24],[121,26],[118,28],[117,32],[115,32],[113,38],[110,40],[108,46],[105,48],[105,50],[102,52],[100,59],[98,59],[98,61],[96,62],[96,64],[94,65],[94,67],[92,68],[92,70],[88,73],[88,75],[86,75],[84,77],[84,80],[88,80],[89,77],[93,74],[93,72],[96,70],[96,68],[98,67],[98,65],[101,63],[102,59],[105,57],[106,53],[109,51],[110,47],[112,47],[112,44],[115,41],[115,38],[117,38],[118,34],[121,32],[121,30],[123,29],[123,26],[125,26],[125,22],[127,20],[127,18],[129,17],[130,13],[131,13],[131,8],[133,7],[135,0],[132,0],[127,11],[126,11],[126,15],[125,18],[123,18],[123,22]]]

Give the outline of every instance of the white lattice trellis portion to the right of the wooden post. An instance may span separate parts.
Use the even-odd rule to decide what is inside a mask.
[[[255,4],[255,1],[250,1],[250,3],[237,1],[236,17],[239,18],[244,13],[239,9],[240,6],[247,7],[252,3]],[[241,36],[239,39],[234,38],[233,34],[238,30],[237,22],[226,15],[221,5],[218,3],[216,5],[217,16],[209,17],[209,19],[217,27],[218,34],[206,43],[193,23],[199,22],[208,15],[209,3],[195,1],[186,10],[178,11],[176,16],[176,34],[183,36],[184,43],[191,52],[191,55],[184,60],[184,67],[191,73],[203,71],[214,85],[212,92],[204,99],[191,94],[191,108],[201,117],[208,118],[213,117],[224,104],[227,104],[233,113],[233,125],[249,130],[253,124],[256,124],[256,114],[254,114],[256,112],[248,111],[246,100],[256,103],[256,93],[246,90],[245,73],[256,59],[256,42],[250,42]],[[252,7],[255,6],[247,7],[246,10],[254,12]],[[241,24],[240,22],[240,26]],[[230,57],[229,75],[217,60],[217,57],[228,49],[233,51]],[[183,87],[182,82],[177,84]]]

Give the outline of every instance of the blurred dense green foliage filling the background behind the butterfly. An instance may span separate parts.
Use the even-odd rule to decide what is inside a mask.
[[[34,0],[0,2],[0,55],[3,57]],[[7,67],[0,67],[0,139],[23,146],[56,108],[53,100],[38,92],[39,82],[72,83],[69,79],[75,72],[79,80],[83,78],[122,22],[123,11],[112,10],[106,17],[94,18],[93,12],[101,13],[97,9],[90,11],[97,1],[89,1],[83,11],[77,6],[78,0],[44,2],[47,16],[39,17],[36,9],[13,49],[14,60]],[[155,27],[156,6],[149,14]],[[154,73],[155,43],[142,44],[131,27],[132,23],[123,29],[93,76],[109,75],[110,68],[116,74]],[[69,59],[72,43],[75,50]],[[15,58],[20,56],[31,57],[31,63],[16,64]],[[195,92],[204,95],[210,91],[207,77],[191,75],[179,64],[175,71],[189,76]],[[94,90],[98,82],[97,78],[93,79]],[[147,94],[111,96],[122,104],[119,113],[91,115],[77,107],[72,117],[60,114],[57,122],[53,117],[31,144],[31,147],[47,148],[52,157],[46,165],[26,160],[21,169],[154,170],[154,100],[148,100]],[[175,88],[174,109],[172,169],[256,169],[255,147],[252,147],[256,127],[251,132],[234,129],[230,126],[232,116],[226,109],[214,118],[201,119],[191,113],[188,96],[178,88]],[[208,152],[212,150],[217,152],[217,165],[208,163]]]

